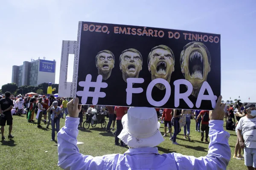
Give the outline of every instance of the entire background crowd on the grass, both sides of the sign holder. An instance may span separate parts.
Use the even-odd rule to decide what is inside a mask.
[[[22,96],[22,95],[11,95],[10,92],[6,92],[3,96],[0,96],[0,126],[2,140],[5,139],[4,127],[9,125],[9,135],[8,138],[13,138],[12,136],[12,115],[16,114],[21,116],[26,114],[26,119],[28,122],[33,123],[37,119],[38,128],[42,128],[41,122],[49,128],[51,124],[52,127],[52,141],[55,141],[55,131],[58,133],[60,130],[60,120],[65,119],[69,114],[67,103],[72,100],[72,98],[60,98],[50,96]],[[108,113],[108,124],[106,127],[107,133],[113,133],[115,136],[114,144],[118,146],[125,147],[126,144],[119,140],[119,135],[123,130],[122,118],[128,112],[128,107],[119,106],[81,106],[81,111],[79,111],[79,128],[82,127],[83,117],[89,108],[100,108],[100,112],[105,111]],[[236,130],[237,142],[235,146],[235,153],[233,155],[234,159],[245,159],[245,164],[248,167],[255,167],[256,157],[252,156],[256,154],[256,141],[254,140],[256,136],[256,126],[253,126],[256,122],[256,116],[247,115],[247,111],[253,113],[255,111],[255,105],[250,105],[248,103],[242,103],[240,101],[236,102],[236,105],[226,105],[224,108],[227,130]],[[170,136],[170,140],[173,144],[178,145],[177,135],[180,133],[183,127],[184,139],[190,139],[190,124],[191,119],[195,120],[195,131],[201,133],[201,142],[209,143],[209,111],[200,110],[180,110],[180,109],[161,109],[155,108],[157,117],[164,124],[164,134],[165,136]],[[36,114],[36,116],[35,116]],[[34,119],[35,116],[35,119]],[[42,120],[42,118],[44,120]],[[86,120],[88,117],[86,118]],[[247,122],[247,123],[245,123]],[[254,124],[252,124],[254,122]],[[116,124],[116,130],[114,129]],[[111,128],[112,125],[112,128]],[[167,128],[169,129],[167,132]],[[247,130],[244,130],[247,128]],[[248,130],[250,129],[250,130]],[[113,132],[111,132],[113,131]],[[172,131],[174,131],[172,133]],[[204,140],[205,136],[205,140]],[[119,142],[120,141],[120,142]],[[244,149],[245,148],[245,149]],[[244,156],[241,154],[241,150],[244,149]],[[252,164],[253,162],[253,164]]]

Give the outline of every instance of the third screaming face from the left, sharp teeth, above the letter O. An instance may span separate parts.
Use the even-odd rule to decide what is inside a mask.
[[[148,54],[148,71],[151,72],[151,79],[165,79],[170,83],[174,71],[175,58],[172,49],[166,45],[158,45],[151,49]],[[163,84],[155,85],[160,90],[166,87]]]

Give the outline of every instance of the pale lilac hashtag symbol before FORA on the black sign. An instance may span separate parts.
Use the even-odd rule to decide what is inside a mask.
[[[84,87],[83,91],[77,91],[77,96],[82,96],[81,104],[86,104],[87,98],[93,98],[93,105],[97,105],[99,98],[103,98],[106,96],[104,92],[100,92],[101,88],[108,87],[106,82],[102,82],[102,75],[97,77],[96,82],[92,82],[92,75],[87,74],[85,78],[85,82],[81,81],[78,83],[79,86]],[[94,91],[89,91],[89,88],[95,88]]]

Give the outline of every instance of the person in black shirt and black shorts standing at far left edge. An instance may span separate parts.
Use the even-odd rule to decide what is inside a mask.
[[[13,101],[10,99],[11,93],[7,91],[5,93],[6,98],[0,100],[0,126],[1,126],[1,133],[2,133],[2,140],[5,139],[4,137],[4,126],[9,125],[9,136],[8,138],[13,138],[12,136],[12,107]]]

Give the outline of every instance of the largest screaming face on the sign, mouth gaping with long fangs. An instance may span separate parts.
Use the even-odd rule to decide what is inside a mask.
[[[183,49],[180,53],[181,72],[193,86],[192,96],[197,97],[211,71],[210,53],[202,42],[189,42]]]

